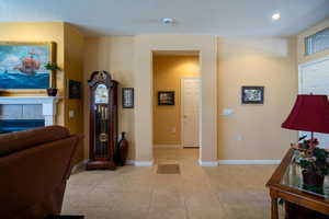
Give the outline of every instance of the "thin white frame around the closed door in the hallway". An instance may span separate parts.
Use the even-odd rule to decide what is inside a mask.
[[[184,103],[183,102],[184,101],[184,95],[183,95],[182,91],[183,91],[183,88],[184,88],[183,87],[183,84],[184,84],[183,81],[185,79],[198,79],[198,85],[201,87],[201,77],[200,76],[195,76],[195,77],[182,77],[181,78],[181,89],[180,89],[180,92],[181,92],[181,100],[180,100],[181,101],[181,108],[180,108],[180,111],[181,111],[181,145],[182,145],[182,148],[184,148],[184,142],[183,142],[183,139],[184,139],[183,138],[183,132],[184,132],[184,125],[183,125],[184,124],[184,117],[182,116],[182,114],[184,112],[184,107],[183,107],[184,106],[184,104],[183,104]],[[200,91],[201,91],[201,88],[200,88]],[[198,116],[198,120],[201,120],[201,116],[200,116],[201,115],[201,113],[200,113],[201,112],[201,101],[202,101],[202,96],[200,95],[198,96],[198,115],[197,115]],[[197,129],[198,129],[198,147],[197,148],[200,149],[201,148],[200,124],[198,124]]]

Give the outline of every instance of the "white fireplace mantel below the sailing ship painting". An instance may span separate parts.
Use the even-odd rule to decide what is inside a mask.
[[[39,104],[43,106],[43,115],[45,117],[45,126],[55,125],[57,103],[60,96],[0,96],[0,105],[5,104]]]

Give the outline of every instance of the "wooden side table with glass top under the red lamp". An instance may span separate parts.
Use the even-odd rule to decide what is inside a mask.
[[[272,200],[272,219],[279,219],[277,200],[285,201],[286,218],[329,218],[329,185],[325,182],[325,194],[316,194],[303,188],[300,170],[293,161],[294,149],[290,149],[281,164],[266,183]],[[303,212],[305,210],[305,212]],[[307,214],[306,214],[307,212]],[[307,215],[307,216],[306,216]]]

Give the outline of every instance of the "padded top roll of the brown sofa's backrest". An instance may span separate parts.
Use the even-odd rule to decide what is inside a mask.
[[[0,135],[0,157],[70,136],[67,128],[47,126]]]

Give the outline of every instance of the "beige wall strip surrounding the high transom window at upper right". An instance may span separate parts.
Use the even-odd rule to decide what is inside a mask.
[[[324,28],[329,27],[329,19],[318,23],[317,25],[303,31],[302,33],[298,34],[298,64],[305,64],[315,59],[324,58],[329,56],[329,49],[326,49],[324,51],[319,51],[309,56],[305,56],[305,44],[304,39],[305,37],[313,35],[319,31],[322,31]]]

